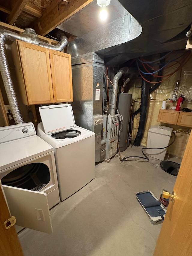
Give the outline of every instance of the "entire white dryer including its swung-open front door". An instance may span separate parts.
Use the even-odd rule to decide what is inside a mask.
[[[41,229],[42,222],[50,233],[49,209],[60,201],[52,146],[36,135],[33,123],[1,127],[0,158],[0,179],[10,202],[11,214],[13,211],[13,215],[17,216],[16,223],[44,231]],[[19,206],[25,200],[27,205]],[[37,205],[33,207],[32,201]],[[43,204],[48,207],[48,212],[45,209],[48,224]],[[30,215],[35,218],[35,228]]]

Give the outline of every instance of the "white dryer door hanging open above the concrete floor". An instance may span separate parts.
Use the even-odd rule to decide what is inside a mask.
[[[45,233],[52,233],[52,223],[47,195],[2,185],[10,214],[16,217],[16,225]]]

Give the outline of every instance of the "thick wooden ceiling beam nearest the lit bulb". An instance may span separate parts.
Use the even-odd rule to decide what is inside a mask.
[[[30,27],[35,29],[39,35],[46,35],[56,28],[64,20],[69,19],[72,15],[76,14],[86,5],[90,4],[93,0],[69,0],[69,4],[64,1],[53,1],[45,10],[42,17],[32,23]]]

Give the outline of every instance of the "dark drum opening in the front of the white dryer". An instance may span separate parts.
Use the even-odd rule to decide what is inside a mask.
[[[39,191],[50,181],[50,172],[46,164],[31,163],[23,165],[1,179],[3,185]]]

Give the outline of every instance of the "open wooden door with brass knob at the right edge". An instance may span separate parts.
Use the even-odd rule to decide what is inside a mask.
[[[169,203],[154,256],[192,255],[192,133],[173,191],[176,199]]]

